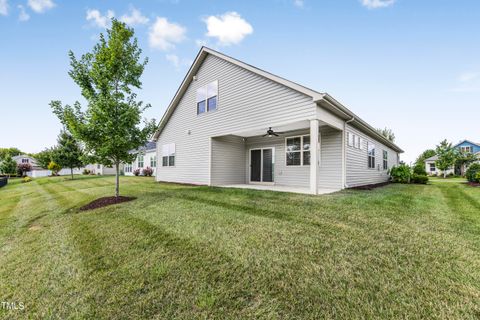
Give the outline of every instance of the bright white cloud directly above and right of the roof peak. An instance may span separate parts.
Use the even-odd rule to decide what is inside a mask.
[[[238,44],[253,33],[253,27],[236,12],[209,16],[204,22],[207,24],[206,36],[217,38],[219,44],[224,46]]]

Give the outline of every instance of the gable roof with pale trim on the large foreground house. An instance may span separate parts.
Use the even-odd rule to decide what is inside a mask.
[[[202,65],[203,61],[205,61],[206,57],[209,54],[213,55],[213,56],[216,56],[220,59],[223,59],[225,61],[228,61],[228,62],[230,62],[234,65],[237,65],[237,66],[239,66],[243,69],[251,71],[255,74],[258,74],[262,77],[265,77],[269,80],[272,80],[276,83],[282,84],[282,85],[284,85],[284,86],[286,86],[290,89],[293,89],[297,92],[303,93],[303,94],[311,97],[313,102],[315,102],[319,105],[322,105],[322,107],[332,111],[333,113],[337,114],[341,118],[343,118],[345,120],[349,120],[352,124],[355,124],[360,129],[363,129],[363,130],[367,131],[371,136],[375,137],[380,142],[389,146],[393,150],[395,150],[397,152],[403,152],[403,150],[401,148],[399,148],[395,143],[391,142],[390,140],[385,138],[383,135],[379,134],[372,126],[370,126],[368,123],[366,123],[360,117],[358,117],[356,114],[354,114],[348,108],[343,106],[340,102],[335,100],[328,93],[321,93],[321,92],[312,90],[312,89],[307,88],[303,85],[300,85],[296,82],[293,82],[293,81],[287,80],[285,78],[279,77],[279,76],[274,75],[270,72],[259,69],[257,67],[254,67],[254,66],[250,65],[250,64],[247,64],[245,62],[242,62],[240,60],[237,60],[235,58],[232,58],[232,57],[227,56],[223,53],[220,53],[220,52],[215,51],[213,49],[207,48],[205,46],[203,46],[200,49],[200,51],[198,52],[195,60],[193,61],[193,64],[190,66],[190,69],[188,70],[187,74],[185,75],[185,78],[183,79],[182,83],[180,84],[180,87],[177,89],[177,92],[175,93],[175,96],[170,101],[170,104],[168,105],[167,110],[165,111],[162,119],[160,120],[160,123],[158,125],[158,129],[153,136],[154,141],[156,141],[158,139],[158,137],[160,136],[160,133],[162,132],[162,130],[165,127],[168,120],[170,119],[170,116],[175,111],[175,108],[177,107],[178,103],[180,102],[180,99],[182,98],[185,91],[188,89],[188,86],[192,82],[193,77],[195,76],[197,71],[200,69],[200,66]]]

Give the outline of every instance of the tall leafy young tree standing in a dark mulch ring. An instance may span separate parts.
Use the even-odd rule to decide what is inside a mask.
[[[92,52],[77,59],[70,51],[70,77],[80,87],[87,101],[83,111],[77,101],[73,106],[62,106],[60,101],[50,103],[53,112],[68,131],[85,146],[85,153],[96,163],[115,166],[115,196],[120,194],[120,163],[136,158],[130,150],[146,143],[155,130],[155,120],[141,116],[149,104],[136,101],[134,89],[141,88],[140,77],[146,58],[140,61],[134,31],[124,23],[112,19],[107,37],[100,34]]]

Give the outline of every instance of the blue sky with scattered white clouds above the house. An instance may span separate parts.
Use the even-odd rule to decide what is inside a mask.
[[[90,51],[111,17],[149,58],[147,118],[206,45],[391,128],[407,163],[443,139],[480,142],[478,0],[0,0],[0,147],[55,145],[49,102],[81,101],[68,51]]]

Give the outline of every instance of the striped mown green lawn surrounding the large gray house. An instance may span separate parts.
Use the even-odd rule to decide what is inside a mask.
[[[305,196],[122,177],[0,189],[3,318],[480,317],[480,188]],[[1,306],[0,306],[1,307]]]

